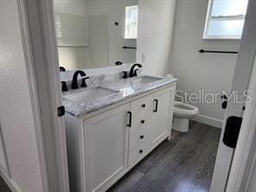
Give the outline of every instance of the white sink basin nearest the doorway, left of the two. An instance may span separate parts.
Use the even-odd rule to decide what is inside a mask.
[[[75,103],[81,104],[93,99],[99,99],[101,97],[105,97],[112,93],[118,93],[118,92],[112,91],[106,88],[96,87],[83,92],[68,94],[64,96],[64,98],[72,100]]]

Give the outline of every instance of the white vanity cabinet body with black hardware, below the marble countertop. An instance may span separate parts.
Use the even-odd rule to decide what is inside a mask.
[[[170,138],[176,83],[76,118],[66,115],[73,192],[105,191]]]

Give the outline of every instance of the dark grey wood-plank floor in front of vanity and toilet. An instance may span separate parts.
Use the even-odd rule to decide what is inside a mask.
[[[210,188],[221,130],[191,122],[188,133],[172,131],[156,150],[108,192],[205,192]]]

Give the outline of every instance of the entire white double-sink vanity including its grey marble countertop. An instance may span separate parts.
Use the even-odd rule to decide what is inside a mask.
[[[72,191],[106,191],[170,139],[175,91],[175,78],[96,75],[63,93]]]

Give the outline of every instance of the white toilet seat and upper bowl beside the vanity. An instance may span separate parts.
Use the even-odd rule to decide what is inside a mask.
[[[173,112],[176,118],[192,118],[198,114],[199,110],[195,106],[175,101]]]

